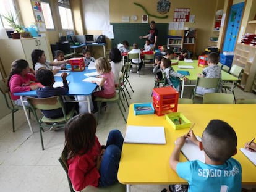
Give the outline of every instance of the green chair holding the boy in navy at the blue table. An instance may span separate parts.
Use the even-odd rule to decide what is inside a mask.
[[[36,121],[39,125],[39,130],[40,130],[40,139],[41,139],[41,146],[42,150],[44,150],[43,146],[43,136],[42,136],[42,131],[44,127],[64,127],[67,123],[67,121],[71,118],[74,117],[75,112],[75,107],[70,110],[68,114],[66,114],[64,104],[62,102],[62,99],[60,96],[53,96],[49,98],[33,98],[33,97],[26,97],[28,103],[32,107],[33,114],[35,115]],[[62,109],[63,112],[63,117],[59,118],[48,118],[45,117],[45,115],[41,114],[41,117],[38,117],[36,114],[35,109],[40,109],[40,110],[53,110],[53,109]]]

